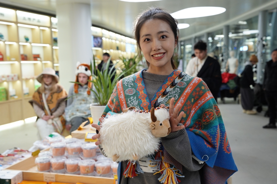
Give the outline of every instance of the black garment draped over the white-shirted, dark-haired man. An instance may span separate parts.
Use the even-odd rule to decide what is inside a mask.
[[[218,61],[208,56],[203,67],[198,72],[197,77],[203,79],[216,99],[218,97],[218,92],[222,81],[220,65]]]

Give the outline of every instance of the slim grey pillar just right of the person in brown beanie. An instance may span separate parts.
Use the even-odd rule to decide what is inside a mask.
[[[266,19],[267,11],[259,12],[259,19],[258,19],[258,63],[257,63],[257,83],[263,84],[264,79],[264,69],[266,64],[266,55],[263,52],[265,49],[263,47],[263,37],[266,36],[266,27],[267,27],[267,19]]]

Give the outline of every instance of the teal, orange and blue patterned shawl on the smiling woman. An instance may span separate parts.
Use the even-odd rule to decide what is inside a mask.
[[[121,79],[108,101],[103,116],[105,117],[109,111],[121,113],[122,109],[127,107],[150,110],[162,92],[180,73],[178,70],[173,71],[151,100],[145,90],[142,71]],[[185,112],[180,123],[186,127],[192,152],[199,160],[206,163],[202,168],[203,183],[225,183],[237,171],[237,167],[220,110],[212,93],[202,79],[186,74],[162,103],[169,106],[172,97],[175,98],[174,104],[181,103],[181,111]],[[166,150],[164,150],[164,162],[174,165],[177,169],[181,168],[180,163]]]

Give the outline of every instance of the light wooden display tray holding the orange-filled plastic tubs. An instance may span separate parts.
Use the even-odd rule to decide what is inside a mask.
[[[26,158],[16,164],[9,166],[6,169],[22,170],[23,180],[28,181],[56,181],[72,184],[76,184],[78,182],[84,184],[113,184],[113,178],[82,176],[74,174],[58,174],[50,172],[37,172],[37,166],[35,164],[35,158],[37,157],[38,156],[32,156]]]

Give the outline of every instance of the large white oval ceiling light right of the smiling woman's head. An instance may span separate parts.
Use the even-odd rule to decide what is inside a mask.
[[[171,14],[176,19],[184,18],[198,18],[207,17],[212,15],[218,15],[225,12],[226,9],[223,7],[203,6],[203,7],[191,7],[183,10],[179,10]]]

